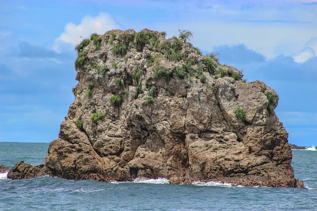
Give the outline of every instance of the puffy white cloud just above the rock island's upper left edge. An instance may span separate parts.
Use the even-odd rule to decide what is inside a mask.
[[[71,22],[65,25],[64,32],[54,40],[53,49],[60,52],[60,49],[65,44],[71,44],[74,47],[92,33],[104,34],[108,30],[118,28],[119,26],[107,13],[102,12],[96,17],[86,15],[82,18],[79,25]]]

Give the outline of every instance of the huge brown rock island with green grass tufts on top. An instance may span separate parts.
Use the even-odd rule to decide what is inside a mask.
[[[75,100],[45,166],[33,171],[106,182],[143,176],[303,188],[274,113],[276,92],[202,55],[189,31],[165,34],[112,30],[76,46]]]

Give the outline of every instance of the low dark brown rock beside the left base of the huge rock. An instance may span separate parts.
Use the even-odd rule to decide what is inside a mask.
[[[7,178],[9,179],[31,179],[39,176],[50,175],[45,164],[32,166],[25,164],[23,161],[17,162],[12,169],[9,170]]]

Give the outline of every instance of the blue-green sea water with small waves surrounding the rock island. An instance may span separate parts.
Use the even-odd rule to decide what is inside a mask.
[[[44,163],[49,143],[0,142],[0,165]],[[317,211],[317,151],[293,150],[296,178],[307,189],[232,186],[166,178],[106,183],[42,176],[10,180],[0,174],[0,211]]]

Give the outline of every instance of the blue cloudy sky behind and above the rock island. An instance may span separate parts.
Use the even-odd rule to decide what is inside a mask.
[[[74,45],[130,28],[192,31],[203,53],[277,91],[290,143],[317,145],[316,0],[0,0],[0,141],[56,139],[74,100]]]

